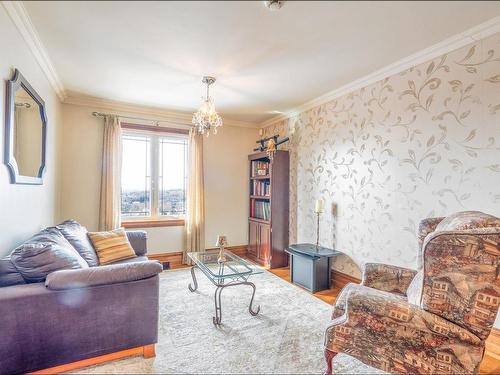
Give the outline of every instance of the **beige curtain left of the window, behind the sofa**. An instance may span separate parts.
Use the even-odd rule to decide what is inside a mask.
[[[117,116],[104,117],[99,230],[121,225],[120,180],[122,173],[122,130]]]

